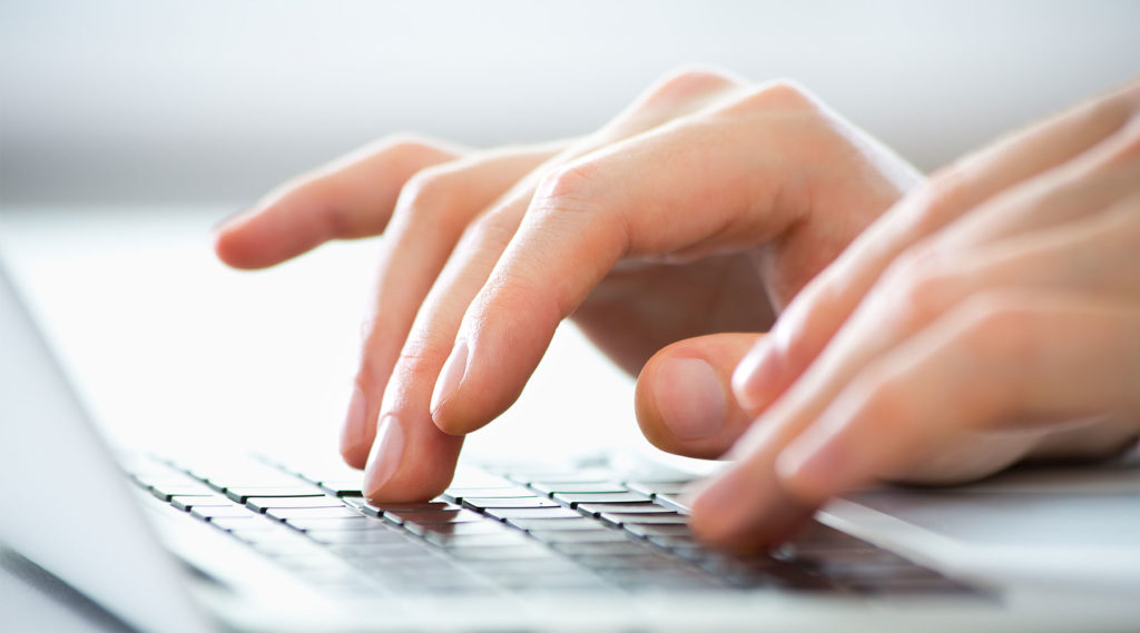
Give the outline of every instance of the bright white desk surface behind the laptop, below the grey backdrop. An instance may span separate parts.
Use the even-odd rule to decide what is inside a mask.
[[[233,271],[214,260],[209,233],[231,211],[6,209],[0,250],[115,442],[334,455],[378,244]],[[564,326],[519,403],[465,450],[648,446],[633,385]]]

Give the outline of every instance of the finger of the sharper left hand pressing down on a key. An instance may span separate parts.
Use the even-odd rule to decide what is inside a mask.
[[[450,480],[462,439],[433,424],[432,386],[455,344],[464,311],[516,231],[538,178],[555,165],[692,112],[736,85],[732,77],[708,71],[667,77],[642,97],[638,107],[537,168],[469,227],[427,294],[384,391],[378,426],[385,433],[377,431],[365,472],[370,499],[430,498]]]

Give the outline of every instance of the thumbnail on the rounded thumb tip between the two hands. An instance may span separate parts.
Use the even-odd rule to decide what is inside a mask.
[[[674,359],[653,386],[661,420],[677,439],[700,439],[724,426],[727,404],[712,365],[701,359]]]

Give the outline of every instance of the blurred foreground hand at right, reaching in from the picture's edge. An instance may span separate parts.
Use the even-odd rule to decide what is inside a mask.
[[[1138,254],[1140,83],[945,168],[736,369],[755,424],[694,493],[694,529],[763,546],[871,482],[1122,451],[1140,434]]]

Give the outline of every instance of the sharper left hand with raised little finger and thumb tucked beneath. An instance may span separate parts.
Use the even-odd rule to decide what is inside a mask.
[[[369,498],[418,500],[450,480],[462,434],[518,397],[563,318],[632,372],[687,337],[763,330],[919,180],[795,85],[686,71],[552,146],[382,142],[228,222],[217,250],[256,268],[385,233],[342,453],[367,459]],[[700,419],[682,389],[754,340],[670,347],[691,362],[643,375],[640,393],[663,395],[638,398],[650,438],[719,454],[749,419],[727,383]]]

